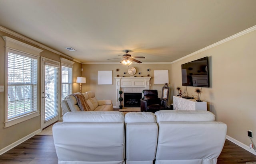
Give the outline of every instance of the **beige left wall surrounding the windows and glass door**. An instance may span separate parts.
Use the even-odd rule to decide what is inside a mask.
[[[9,35],[7,33],[4,33],[0,31],[0,85],[4,85],[4,80],[6,80],[6,77],[4,76],[4,68],[5,68],[5,41],[2,39],[2,36],[8,36],[13,39],[22,41],[21,39],[18,39],[12,35]],[[24,43],[30,44],[26,41],[22,41]],[[32,44],[30,44],[32,45]],[[34,47],[38,47],[33,45]],[[40,48],[40,47],[38,47]],[[42,48],[40,48],[42,49]],[[60,61],[60,55],[57,55],[55,53],[52,53],[51,51],[48,51],[46,49],[43,49],[44,51],[40,53],[40,56],[42,57],[47,57],[49,59],[53,59],[56,61]],[[40,63],[40,62],[39,62]],[[40,69],[40,66],[39,66]],[[73,65],[73,70],[81,70],[81,64],[80,63],[74,63]],[[78,71],[73,71],[74,76],[80,76],[81,72]],[[38,76],[39,78],[39,84],[40,84],[40,74]],[[75,80],[73,79],[73,82]],[[79,87],[77,88],[76,85],[74,84],[73,91],[79,91]],[[6,92],[6,91],[5,91]],[[41,92],[41,91],[39,91]],[[39,99],[40,100],[40,99]],[[0,92],[0,150],[2,148],[5,148],[6,146],[22,139],[23,137],[26,137],[27,135],[30,135],[31,133],[37,131],[40,129],[40,116],[34,117],[32,119],[29,119],[27,121],[24,121],[22,123],[18,123],[16,125],[13,125],[8,128],[4,128],[4,92]],[[40,104],[40,103],[39,103]],[[40,109],[40,105],[38,106]],[[62,113],[62,112],[60,112]]]

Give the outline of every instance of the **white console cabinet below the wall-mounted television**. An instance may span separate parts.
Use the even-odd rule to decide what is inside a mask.
[[[173,96],[173,109],[207,111],[207,102],[197,102],[195,99],[185,99],[180,96]]]

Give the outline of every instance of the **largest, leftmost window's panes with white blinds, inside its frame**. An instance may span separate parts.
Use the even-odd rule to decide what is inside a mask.
[[[37,110],[37,58],[8,53],[8,119]]]

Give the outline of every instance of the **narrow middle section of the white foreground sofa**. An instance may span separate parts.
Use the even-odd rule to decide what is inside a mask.
[[[156,155],[158,126],[151,112],[130,112],[126,125],[126,164],[152,164]]]

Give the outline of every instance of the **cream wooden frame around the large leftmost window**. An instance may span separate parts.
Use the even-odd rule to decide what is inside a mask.
[[[12,125],[16,125],[28,119],[32,119],[34,117],[40,116],[40,99],[39,99],[39,62],[40,62],[40,53],[43,51],[42,49],[38,49],[21,41],[17,41],[7,36],[2,37],[5,41],[5,79],[4,79],[4,128],[10,127]],[[12,51],[12,52],[11,52]],[[13,117],[8,119],[8,53],[19,53],[17,55],[22,55],[26,57],[36,58],[37,60],[37,99],[36,105],[37,109],[35,111],[31,111],[29,113],[24,113],[23,115],[19,115],[17,117]]]

